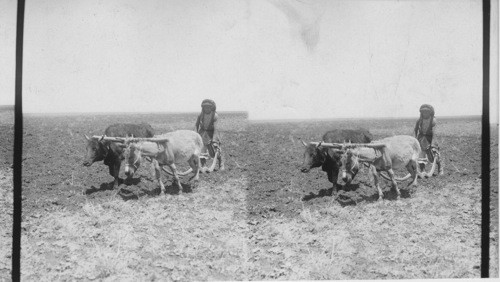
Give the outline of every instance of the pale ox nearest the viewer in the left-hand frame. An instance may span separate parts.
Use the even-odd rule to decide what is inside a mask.
[[[140,140],[141,138],[136,138]],[[198,184],[200,172],[200,154],[203,150],[203,140],[200,134],[191,130],[178,130],[162,135],[155,136],[149,141],[139,141],[132,143],[125,141],[126,148],[124,156],[127,160],[125,165],[125,174],[132,177],[139,167],[142,157],[150,157],[155,168],[156,179],[160,185],[160,193],[165,191],[165,186],[161,181],[161,169],[163,166],[170,168],[174,183],[179,187],[179,193],[182,193],[182,185],[179,181],[176,164],[187,162],[191,167],[188,172],[193,171],[194,175],[189,179]],[[169,172],[169,171],[167,171]]]

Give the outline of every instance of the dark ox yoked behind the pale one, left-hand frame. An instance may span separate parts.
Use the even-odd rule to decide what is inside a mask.
[[[106,128],[104,135],[108,137],[153,137],[154,130],[147,123],[118,123]],[[91,166],[94,162],[104,161],[104,164],[109,167],[109,174],[115,178],[112,188],[118,186],[118,174],[120,173],[121,162],[124,159],[122,146],[111,141],[89,138],[87,135],[85,135],[85,138],[87,139],[87,151],[83,165]]]

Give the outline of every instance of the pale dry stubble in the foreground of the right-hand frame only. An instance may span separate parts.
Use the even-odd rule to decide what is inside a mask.
[[[252,230],[257,274],[251,278],[478,277],[480,185],[458,188],[418,191],[400,202],[304,208],[295,219],[262,221]]]

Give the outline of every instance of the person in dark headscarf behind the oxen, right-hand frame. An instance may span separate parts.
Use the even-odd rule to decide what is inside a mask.
[[[429,104],[420,106],[420,118],[415,124],[415,138],[417,138],[422,149],[420,156],[420,170],[425,169],[425,163],[430,161],[434,162],[434,157],[437,157],[436,164],[438,166],[438,173],[443,174],[443,167],[441,165],[441,158],[439,157],[439,146],[432,139],[436,133],[436,118],[434,117],[434,108]]]

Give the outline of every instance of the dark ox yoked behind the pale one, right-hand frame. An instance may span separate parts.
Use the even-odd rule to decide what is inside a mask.
[[[334,129],[326,132],[323,135],[323,142],[325,143],[370,143],[372,141],[372,134],[366,129]],[[320,167],[326,171],[328,181],[337,184],[339,170],[342,167],[341,153],[338,150],[331,148],[324,148],[314,144],[306,144],[305,146],[304,161],[302,163],[301,171],[309,172],[312,168]],[[343,179],[349,184],[354,176],[356,176],[357,169],[353,171],[352,177]]]

